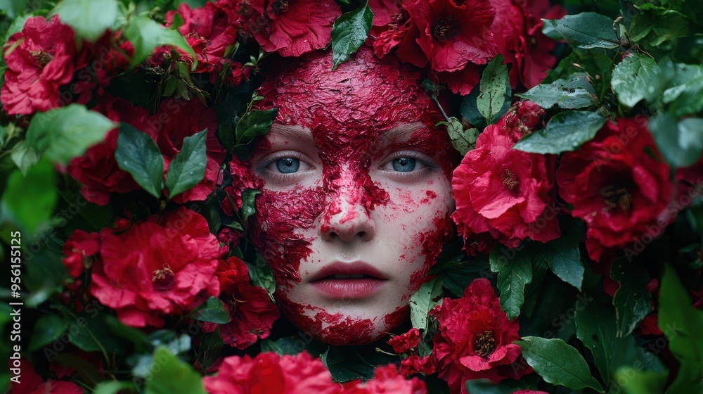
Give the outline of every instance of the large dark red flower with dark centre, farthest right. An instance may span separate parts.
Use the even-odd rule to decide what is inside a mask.
[[[644,117],[609,121],[595,139],[565,153],[557,183],[572,216],[586,222],[586,249],[596,261],[607,248],[651,242],[676,217],[676,208],[667,208],[669,166]]]

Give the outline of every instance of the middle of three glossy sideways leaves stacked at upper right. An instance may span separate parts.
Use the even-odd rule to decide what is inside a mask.
[[[568,80],[555,80],[550,84],[538,84],[523,94],[516,94],[526,98],[542,108],[553,106],[574,109],[593,106],[598,103],[595,89],[583,73],[572,74]]]

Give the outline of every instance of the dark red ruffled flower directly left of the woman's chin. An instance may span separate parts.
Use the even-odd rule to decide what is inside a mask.
[[[220,283],[219,298],[231,317],[229,323],[219,325],[224,343],[245,349],[259,338],[268,337],[273,322],[280,317],[280,310],[264,288],[249,284],[245,262],[236,257],[219,260],[216,274]],[[214,324],[206,324],[204,331],[214,331],[214,328]]]

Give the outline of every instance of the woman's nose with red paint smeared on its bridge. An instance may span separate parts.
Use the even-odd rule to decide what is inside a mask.
[[[352,242],[359,238],[370,241],[376,236],[376,225],[370,212],[359,201],[350,201],[347,196],[337,196],[330,201],[322,215],[320,235],[325,241],[338,238]]]

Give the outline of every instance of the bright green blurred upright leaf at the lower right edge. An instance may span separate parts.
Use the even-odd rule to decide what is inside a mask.
[[[681,362],[669,393],[699,393],[703,381],[703,311],[693,307],[670,265],[664,266],[662,275],[659,329],[669,339],[669,350]]]

